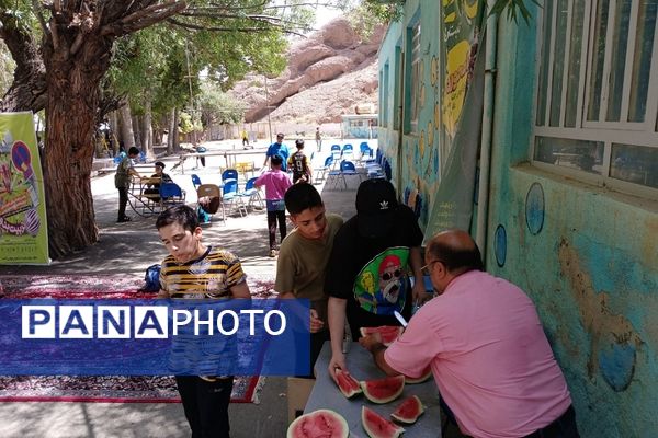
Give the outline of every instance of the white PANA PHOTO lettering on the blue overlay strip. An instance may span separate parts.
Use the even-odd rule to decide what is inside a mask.
[[[175,309],[168,306],[22,306],[24,339],[163,339],[179,331],[195,336],[232,336],[240,316],[248,316],[249,335],[264,330],[272,336],[286,328],[285,314],[262,309]],[[259,325],[262,325],[260,327]],[[190,332],[192,330],[192,332]],[[245,330],[245,328],[243,328]]]

